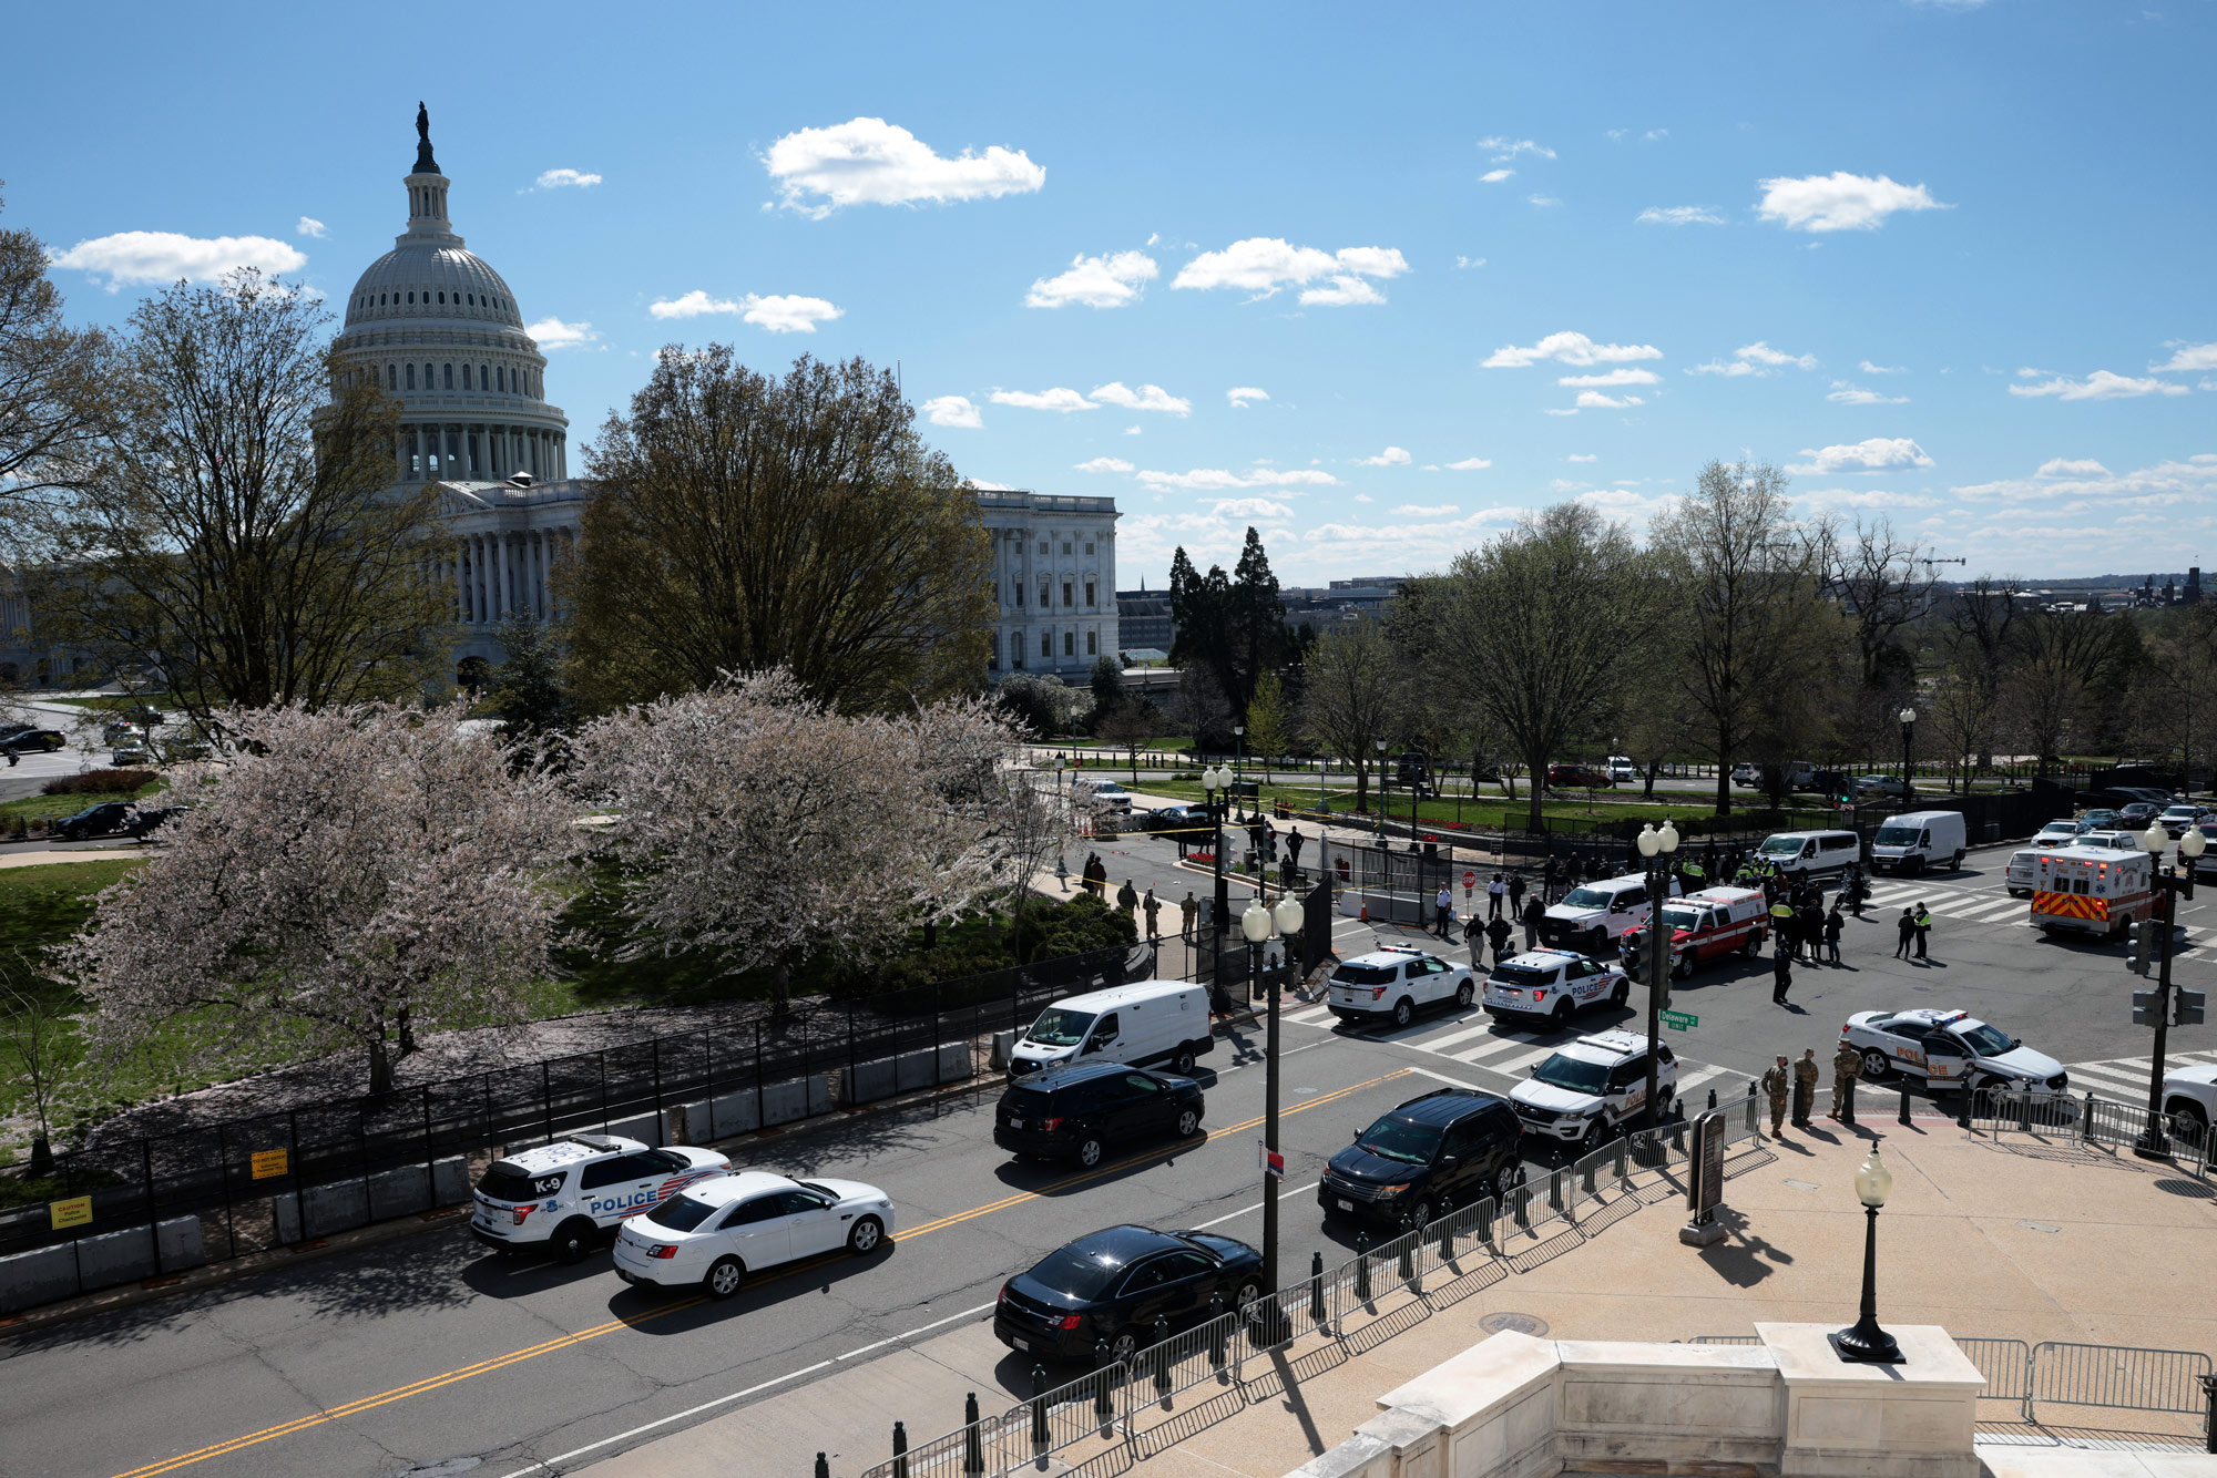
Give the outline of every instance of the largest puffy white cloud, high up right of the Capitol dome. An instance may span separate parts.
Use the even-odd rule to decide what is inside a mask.
[[[787,133],[763,155],[783,204],[816,219],[838,206],[913,206],[1026,195],[1046,171],[1022,148],[993,144],[956,157],[882,117],[851,117],[829,129]]]

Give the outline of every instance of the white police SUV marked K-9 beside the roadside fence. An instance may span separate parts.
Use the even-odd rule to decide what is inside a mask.
[[[650,1150],[616,1135],[568,1135],[486,1166],[470,1234],[501,1252],[543,1248],[574,1263],[625,1217],[729,1172],[732,1161],[714,1150]]]

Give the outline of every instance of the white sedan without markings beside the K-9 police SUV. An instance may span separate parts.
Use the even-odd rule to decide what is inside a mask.
[[[689,1186],[616,1234],[616,1276],[729,1299],[749,1272],[847,1248],[873,1252],[893,1201],[860,1181],[789,1181],[740,1170]]]

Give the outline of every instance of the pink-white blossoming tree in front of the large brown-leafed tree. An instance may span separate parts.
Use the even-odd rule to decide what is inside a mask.
[[[594,720],[576,776],[616,815],[621,953],[767,968],[783,1008],[800,959],[880,959],[1026,886],[1060,835],[1015,740],[987,698],[842,716],[787,669]]]

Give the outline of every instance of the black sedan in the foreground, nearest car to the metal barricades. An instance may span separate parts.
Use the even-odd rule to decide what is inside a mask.
[[[1000,1290],[993,1334],[1051,1361],[1093,1361],[1093,1345],[1124,1361],[1168,1330],[1208,1318],[1210,1296],[1233,1312],[1264,1294],[1261,1252],[1215,1232],[1120,1225],[1049,1252]]]

